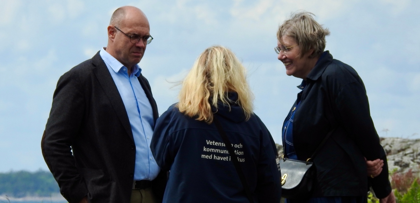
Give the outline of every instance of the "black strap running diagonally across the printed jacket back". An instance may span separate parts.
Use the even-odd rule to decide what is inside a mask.
[[[216,125],[217,130],[219,131],[220,136],[223,139],[223,142],[226,145],[226,148],[229,151],[229,154],[231,155],[232,161],[234,162],[236,172],[239,175],[239,179],[241,179],[242,185],[244,186],[245,193],[247,194],[247,198],[250,203],[254,203],[254,200],[252,199],[251,190],[249,190],[249,185],[247,183],[247,180],[245,179],[244,172],[241,169],[241,166],[239,165],[238,157],[234,153],[234,149],[232,147],[231,141],[229,141],[228,136],[226,135],[225,131],[222,128],[222,125],[220,124],[219,120],[213,115],[213,122]]]

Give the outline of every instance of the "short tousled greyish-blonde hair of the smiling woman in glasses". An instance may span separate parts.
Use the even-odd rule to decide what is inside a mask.
[[[286,19],[278,27],[277,39],[283,44],[282,37],[290,36],[300,47],[300,56],[314,49],[310,57],[319,57],[325,49],[325,36],[330,35],[327,28],[317,23],[312,17],[313,13],[300,11],[292,13],[289,19]]]

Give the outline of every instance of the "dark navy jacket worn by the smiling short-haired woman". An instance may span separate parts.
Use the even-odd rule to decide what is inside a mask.
[[[315,196],[363,196],[368,190],[367,160],[382,159],[379,176],[369,178],[378,198],[391,193],[386,154],[370,117],[365,86],[349,65],[327,51],[307,76],[298,94],[293,143],[299,160],[307,160],[325,135],[336,128],[315,159]],[[289,117],[289,116],[288,116]]]

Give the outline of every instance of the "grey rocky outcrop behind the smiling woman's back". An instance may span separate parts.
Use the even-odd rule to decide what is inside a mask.
[[[388,169],[394,172],[420,172],[420,139],[380,138],[386,152]],[[276,144],[278,154],[283,154],[281,145]]]

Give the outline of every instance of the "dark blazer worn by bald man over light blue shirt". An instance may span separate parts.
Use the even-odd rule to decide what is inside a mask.
[[[138,79],[156,122],[149,82],[143,75]],[[69,203],[85,195],[89,202],[130,202],[136,146],[123,100],[99,52],[58,80],[41,148]],[[159,200],[165,184],[163,172],[152,182]]]

